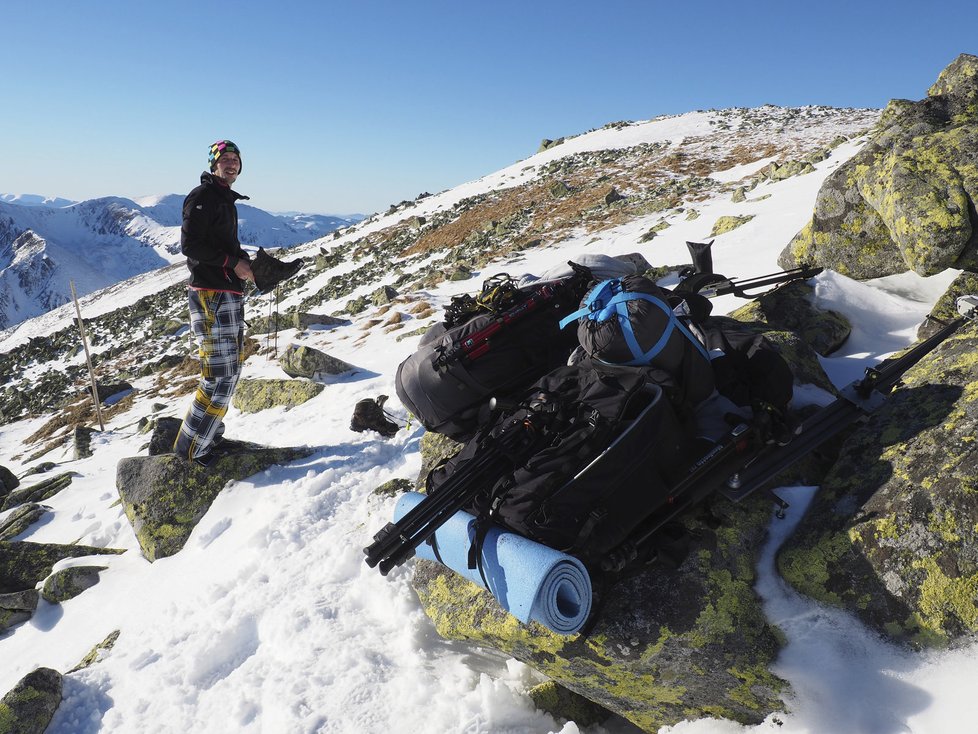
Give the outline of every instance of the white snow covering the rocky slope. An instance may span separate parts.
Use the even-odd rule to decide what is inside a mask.
[[[689,116],[689,129],[683,128],[683,118],[662,123],[672,126],[670,135],[696,134],[705,124],[701,114]],[[591,136],[603,138],[611,132]],[[625,128],[623,134],[634,136],[636,129]],[[587,137],[564,145],[581,145]],[[734,204],[728,197],[698,204],[698,219],[675,215],[672,226],[651,243],[638,244],[638,239],[658,217],[636,220],[596,239],[582,234],[559,246],[522,253],[518,262],[487,269],[473,281],[445,284],[430,296],[445,303],[452,293],[477,290],[494,272],[539,273],[580,252],[640,251],[653,265],[688,262],[685,242],[709,239],[712,223],[727,214],[756,216],[717,238],[716,271],[734,278],[777,271],[777,255],[810,216],[821,181],[857,147],[851,143],[837,149],[818,164],[816,173],[759,186],[746,203]],[[548,155],[554,154],[540,154]],[[508,173],[426,199],[419,207],[448,206],[453,197],[488,190],[537,162],[534,157]],[[764,194],[771,196],[761,199]],[[368,226],[384,225],[381,219]],[[845,349],[824,360],[836,383],[849,382],[867,364],[912,341],[917,325],[954,275],[906,275],[873,283],[856,283],[831,272],[818,276],[816,298],[846,314],[856,327]],[[146,287],[147,282],[140,278],[132,287]],[[104,313],[113,300],[125,305],[134,299],[131,290],[119,287],[87,300]],[[741,303],[725,296],[714,301],[714,309],[725,313]],[[30,336],[32,324],[39,331],[56,325],[53,319],[28,322],[16,336],[8,335],[10,341]],[[229,485],[187,546],[171,558],[146,561],[116,504],[116,463],[145,453],[148,437],[135,424],[150,413],[151,401],[139,403],[95,434],[92,457],[73,461],[68,450],[43,457],[57,461],[57,471],[77,475],[68,489],[46,503],[51,507],[46,519],[20,539],[78,541],[127,552],[59,565],[94,563],[108,570],[97,586],[61,606],[42,601],[30,622],[0,638],[0,692],[37,666],[67,671],[93,645],[119,630],[115,647],[98,664],[66,677],[64,701],[50,733],[635,731],[621,720],[584,728],[537,711],[525,694],[539,681],[534,671],[492,651],[474,652],[438,637],[410,587],[410,563],[387,577],[364,564],[363,546],[393,509],[392,500],[371,492],[389,479],[417,475],[422,430],[409,425],[393,439],[349,430],[354,404],[379,394],[390,395],[387,407],[407,421],[394,397],[394,371],[417,344],[417,337],[397,341],[378,330],[365,337],[367,332],[357,330],[351,336],[356,329],[279,335],[280,348],[294,338],[361,371],[327,385],[318,397],[291,410],[242,414],[232,408],[226,419],[228,437],[310,445],[315,453]],[[245,374],[284,376],[264,356],[253,357]],[[186,407],[181,401],[161,414],[179,417]],[[22,473],[26,467],[12,457],[42,422],[0,428],[0,464]],[[759,564],[757,590],[769,618],[787,639],[775,672],[792,684],[790,713],[756,727],[701,720],[666,731],[968,730],[978,720],[972,691],[978,680],[978,650],[907,653],[846,614],[799,596],[777,576],[773,554],[814,491],[781,490],[791,502],[789,516],[772,520],[770,544]]]

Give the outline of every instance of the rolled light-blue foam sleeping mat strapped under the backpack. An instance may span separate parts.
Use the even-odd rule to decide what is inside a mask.
[[[425,499],[418,492],[401,495],[394,510],[397,522]],[[584,564],[522,535],[493,526],[482,545],[482,570],[469,568],[469,546],[475,517],[459,510],[435,532],[438,556],[429,543],[417,548],[419,558],[439,561],[455,573],[487,589],[499,605],[521,622],[539,622],[560,635],[573,635],[591,613],[591,577]]]

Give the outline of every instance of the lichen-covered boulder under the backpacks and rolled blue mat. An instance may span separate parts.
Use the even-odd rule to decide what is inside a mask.
[[[645,731],[700,717],[756,724],[783,710],[787,685],[769,671],[781,638],[753,588],[770,503],[712,510],[684,518],[690,547],[678,568],[610,589],[587,637],[522,624],[437,563],[417,562],[414,586],[443,637],[501,650]]]

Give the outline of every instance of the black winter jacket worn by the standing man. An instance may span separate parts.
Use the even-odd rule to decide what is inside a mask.
[[[247,198],[205,172],[200,174],[200,186],[183,200],[180,250],[187,256],[191,288],[244,291],[234,266],[239,260],[250,258],[238,241],[238,210],[234,203]]]

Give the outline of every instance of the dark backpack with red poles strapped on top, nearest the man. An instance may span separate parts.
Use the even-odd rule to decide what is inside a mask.
[[[577,338],[558,324],[591,282],[589,270],[574,268],[570,277],[523,288],[498,277],[477,298],[453,298],[445,322],[397,368],[401,403],[427,430],[465,441],[487,417],[489,398],[516,395],[566,364]]]

